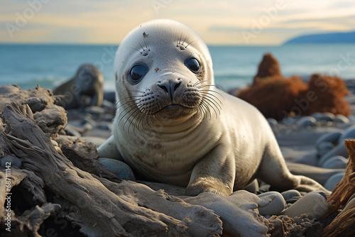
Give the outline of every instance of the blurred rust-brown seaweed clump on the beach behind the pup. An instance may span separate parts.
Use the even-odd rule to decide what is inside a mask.
[[[265,60],[268,59],[268,62]],[[272,69],[277,61],[264,56],[261,65]],[[310,115],[315,112],[330,112],[349,116],[350,106],[345,100],[349,94],[345,82],[337,76],[314,74],[307,83],[300,77],[283,77],[275,71],[274,75],[263,77],[267,70],[259,65],[259,72],[250,87],[241,89],[237,97],[256,106],[266,118],[282,120],[288,116]],[[279,72],[279,71],[278,71]]]

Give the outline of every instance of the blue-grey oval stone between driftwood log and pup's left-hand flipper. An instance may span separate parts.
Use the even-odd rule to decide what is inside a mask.
[[[122,180],[136,180],[131,167],[121,160],[109,158],[99,158],[99,162],[104,165],[107,170],[111,170],[117,177]]]

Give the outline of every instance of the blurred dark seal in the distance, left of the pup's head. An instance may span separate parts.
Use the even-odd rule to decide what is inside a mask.
[[[75,77],[53,90],[53,94],[63,94],[65,109],[101,106],[104,99],[104,76],[94,65],[79,67]]]

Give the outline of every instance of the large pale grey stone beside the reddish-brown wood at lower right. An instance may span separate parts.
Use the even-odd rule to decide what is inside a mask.
[[[310,216],[310,219],[322,219],[322,217],[327,214],[330,207],[327,203],[327,199],[324,197],[327,197],[324,192],[309,192],[288,209],[285,209],[282,214],[291,218],[307,214]]]

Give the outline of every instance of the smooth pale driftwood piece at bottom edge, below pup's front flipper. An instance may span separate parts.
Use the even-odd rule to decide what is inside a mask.
[[[183,199],[190,204],[204,206],[220,216],[223,230],[235,236],[267,236],[267,219],[259,215],[258,208],[268,206],[271,196],[258,197],[246,190],[229,196],[202,192],[196,197]]]

